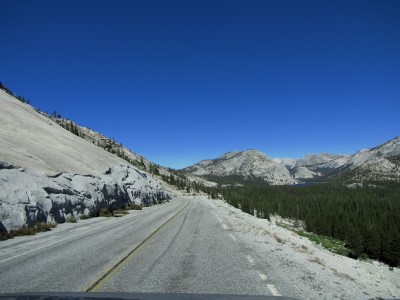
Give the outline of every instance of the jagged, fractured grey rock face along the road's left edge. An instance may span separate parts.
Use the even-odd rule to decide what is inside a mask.
[[[0,162],[0,230],[36,222],[65,222],[70,216],[96,216],[100,208],[131,203],[151,205],[168,199],[164,188],[133,166],[113,166],[99,176],[46,175]]]

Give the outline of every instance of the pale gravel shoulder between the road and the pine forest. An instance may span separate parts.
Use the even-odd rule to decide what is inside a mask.
[[[290,294],[301,299],[400,298],[399,268],[391,271],[376,261],[334,254],[222,200],[208,201],[232,234],[268,265],[270,274],[284,274],[292,283]]]

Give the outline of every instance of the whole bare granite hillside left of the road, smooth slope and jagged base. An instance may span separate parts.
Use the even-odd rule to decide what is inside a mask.
[[[0,230],[168,198],[149,173],[0,90]]]

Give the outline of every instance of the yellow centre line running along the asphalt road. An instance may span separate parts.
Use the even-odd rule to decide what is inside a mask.
[[[144,246],[151,240],[156,234],[167,225],[173,218],[175,218],[181,211],[183,211],[191,201],[186,203],[178,212],[176,212],[167,221],[161,224],[156,230],[154,230],[147,238],[145,238],[141,243],[133,245],[130,249],[125,251],[123,256],[117,259],[111,267],[106,268],[106,270],[95,280],[93,280],[89,285],[87,285],[83,291],[84,292],[96,292],[100,289],[118,270],[120,270],[132,257],[134,257]]]

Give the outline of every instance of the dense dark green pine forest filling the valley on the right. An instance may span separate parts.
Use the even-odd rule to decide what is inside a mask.
[[[264,218],[277,214],[305,222],[306,230],[345,241],[353,258],[370,257],[400,266],[400,184],[347,187],[244,186],[209,189],[231,205]]]

